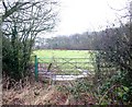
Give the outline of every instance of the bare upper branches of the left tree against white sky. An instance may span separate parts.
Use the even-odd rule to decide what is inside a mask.
[[[14,23],[21,38],[26,37],[25,35],[32,35],[31,38],[34,38],[40,32],[52,29],[57,15],[53,11],[55,3],[50,0],[13,3],[3,1],[3,34],[11,35]]]

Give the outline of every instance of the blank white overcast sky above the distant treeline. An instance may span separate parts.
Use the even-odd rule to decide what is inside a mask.
[[[59,22],[56,32],[44,35],[52,37],[57,35],[70,35],[86,31],[105,28],[116,22],[116,13],[112,10],[122,9],[128,0],[61,0]]]

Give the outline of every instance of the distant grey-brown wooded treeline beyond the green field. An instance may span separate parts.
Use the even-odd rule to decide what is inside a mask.
[[[121,27],[106,28],[101,32],[85,32],[69,36],[52,38],[37,38],[36,49],[70,49],[70,50],[102,50],[106,45],[116,45],[117,37],[128,32],[128,25]]]

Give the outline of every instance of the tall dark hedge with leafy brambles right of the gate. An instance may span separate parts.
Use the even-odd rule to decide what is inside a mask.
[[[105,38],[100,43],[102,49],[97,52],[96,74],[90,80],[92,82],[77,81],[73,86],[63,86],[64,91],[69,91],[75,98],[80,98],[82,93],[90,93],[90,96],[96,99],[96,104],[99,105],[132,104],[131,15],[130,10],[127,15],[130,20],[127,24],[120,21],[120,27],[103,31]]]

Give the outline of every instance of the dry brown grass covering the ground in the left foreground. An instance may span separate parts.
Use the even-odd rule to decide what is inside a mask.
[[[20,82],[14,82],[11,88],[8,88],[10,83],[9,79],[3,81],[3,105],[84,105],[84,100],[76,102],[70,94],[58,92],[56,85],[50,85],[48,81],[38,80],[35,82],[34,78],[28,78]],[[82,99],[90,103],[89,96],[82,95]],[[92,99],[91,99],[92,102]]]

